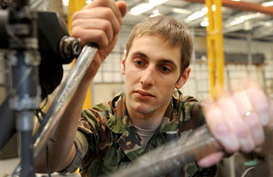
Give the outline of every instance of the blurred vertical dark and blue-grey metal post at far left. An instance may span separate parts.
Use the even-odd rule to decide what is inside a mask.
[[[27,0],[16,0],[8,14],[8,60],[11,64],[12,92],[9,108],[15,112],[15,126],[20,133],[20,177],[35,177],[32,140],[34,111],[41,103],[38,66],[37,14]]]

